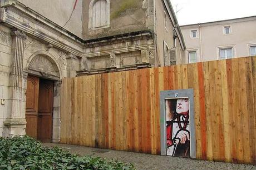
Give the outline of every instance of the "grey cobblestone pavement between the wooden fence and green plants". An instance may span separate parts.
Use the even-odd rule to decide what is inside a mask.
[[[140,169],[256,169],[248,164],[233,164],[213,161],[199,161],[189,158],[155,156],[151,154],[113,151],[107,149],[74,146],[68,144],[45,143],[45,146],[58,146],[71,153],[91,156],[100,156],[107,159],[119,159],[122,162],[132,163]]]

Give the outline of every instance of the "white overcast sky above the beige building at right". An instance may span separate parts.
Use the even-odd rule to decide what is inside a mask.
[[[180,26],[256,16],[256,0],[170,0]]]

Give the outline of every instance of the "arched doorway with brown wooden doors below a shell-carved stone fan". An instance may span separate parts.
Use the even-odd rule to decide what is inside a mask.
[[[29,62],[27,73],[26,134],[42,142],[52,142],[53,99],[60,82],[59,69],[51,57],[37,54]]]

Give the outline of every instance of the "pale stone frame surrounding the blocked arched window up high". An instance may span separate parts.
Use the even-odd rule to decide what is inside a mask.
[[[88,28],[91,30],[109,28],[110,27],[110,0],[105,0],[107,1],[107,25],[102,27],[92,28],[92,8],[96,1],[98,0],[92,0],[89,5]]]

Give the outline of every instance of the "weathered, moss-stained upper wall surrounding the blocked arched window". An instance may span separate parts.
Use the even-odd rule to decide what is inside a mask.
[[[82,25],[83,39],[92,39],[113,36],[129,32],[149,29],[154,22],[152,12],[154,4],[152,0],[111,0],[110,1],[110,25],[102,29],[89,29],[89,8],[91,1],[83,1]],[[151,12],[150,12],[151,10]],[[151,20],[147,19],[147,17]]]

